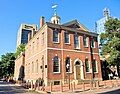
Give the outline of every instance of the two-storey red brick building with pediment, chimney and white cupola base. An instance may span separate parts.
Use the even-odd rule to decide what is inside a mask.
[[[32,33],[32,32],[31,32]],[[51,22],[40,19],[37,33],[29,33],[25,51],[25,80],[35,83],[43,79],[59,84],[101,77],[97,34],[77,20],[60,24],[54,15]]]

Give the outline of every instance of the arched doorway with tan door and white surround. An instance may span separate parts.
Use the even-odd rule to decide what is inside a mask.
[[[82,61],[79,59],[76,59],[74,62],[74,79],[84,79],[83,64]]]

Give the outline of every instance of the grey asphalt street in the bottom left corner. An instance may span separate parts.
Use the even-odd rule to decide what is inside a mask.
[[[0,94],[40,94],[14,84],[0,81]]]

